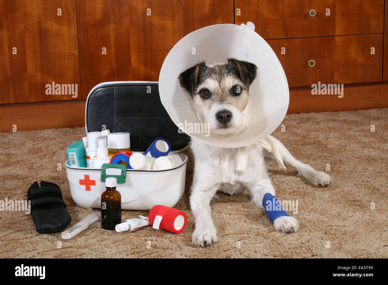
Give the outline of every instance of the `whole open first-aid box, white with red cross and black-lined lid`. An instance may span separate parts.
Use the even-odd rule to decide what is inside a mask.
[[[151,93],[147,92],[150,88],[149,86],[152,86]],[[128,95],[128,99],[126,99],[125,96],[126,92],[134,92],[132,87],[133,90],[137,92],[135,96],[139,95],[136,97],[137,100],[139,100],[139,98],[144,98],[144,100],[147,100],[147,104],[149,104],[149,102],[155,102],[155,106],[142,111],[141,104],[143,103],[136,102],[136,104],[139,104],[139,108],[134,108],[136,114],[133,114],[133,120],[139,120],[138,117],[142,115],[144,121],[139,120],[138,124],[133,124],[131,126],[130,124],[122,124],[120,121],[120,110],[118,109],[120,109],[122,105],[125,105],[123,102],[120,102],[120,100],[125,102],[126,100],[131,100],[130,95]],[[143,92],[143,88],[145,95],[138,94]],[[94,95],[95,97],[93,97]],[[113,97],[115,100],[110,100],[110,98]],[[114,105],[114,108],[111,108],[115,112],[114,120],[112,119],[109,121],[109,114],[94,114],[93,112],[97,112],[101,109],[99,106],[95,106],[97,104],[96,102],[101,102],[98,104],[104,104],[105,107],[108,104],[107,102],[115,102],[114,104],[116,105]],[[130,102],[131,104],[135,104],[135,100]],[[90,104],[92,104],[92,106],[90,106]],[[109,109],[109,106],[107,108]],[[125,108],[125,106],[123,108]],[[119,81],[100,83],[95,86],[88,95],[85,110],[85,128],[87,132],[98,131],[96,129],[99,126],[105,125],[106,128],[109,128],[113,132],[130,132],[131,149],[134,152],[144,152],[147,147],[146,143],[148,142],[151,144],[153,141],[150,137],[165,137],[163,135],[170,136],[170,140],[168,137],[165,138],[171,144],[171,154],[185,149],[188,146],[189,138],[185,134],[178,134],[178,129],[175,127],[175,124],[171,121],[170,117],[168,117],[164,108],[163,110],[158,110],[158,112],[155,111],[156,113],[154,115],[153,110],[158,108],[163,108],[163,105],[161,105],[159,99],[157,82]],[[93,109],[93,112],[90,111],[90,109]],[[149,110],[152,110],[152,113],[150,113]],[[126,109],[124,109],[124,111],[126,111]],[[123,120],[129,116],[126,112],[121,113],[123,113]],[[152,116],[157,117],[153,118]],[[119,121],[120,123],[117,123]],[[158,130],[155,130],[154,125],[158,122],[160,122],[161,126]],[[94,124],[94,126],[91,126],[92,124]],[[143,130],[144,132],[152,130],[152,134],[142,133]],[[146,135],[149,137],[142,141],[141,138]],[[76,138],[74,138],[74,140],[75,139]],[[70,166],[69,162],[66,161],[65,167],[69,180],[71,197],[78,206],[83,208],[100,208],[101,194],[105,191],[104,178],[113,176],[118,179],[117,190],[121,194],[121,209],[150,210],[155,205],[173,207],[182,198],[185,190],[187,156],[184,154],[178,155],[182,159],[182,164],[172,169],[163,170],[125,169],[123,164],[103,164],[102,169],[78,168]],[[109,166],[112,166],[113,168],[121,167],[125,170],[117,168],[111,169]],[[108,167],[108,169],[104,169],[105,167]],[[111,173],[109,171],[116,171],[120,173],[120,176],[115,176],[118,173]],[[125,181],[124,183],[120,183],[120,180]]]

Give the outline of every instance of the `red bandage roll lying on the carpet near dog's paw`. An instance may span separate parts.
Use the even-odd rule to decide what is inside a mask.
[[[171,233],[182,232],[187,222],[184,212],[162,205],[152,207],[148,219],[152,228],[170,231]]]

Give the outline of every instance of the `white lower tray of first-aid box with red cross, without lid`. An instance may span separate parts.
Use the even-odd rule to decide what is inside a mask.
[[[125,183],[117,183],[116,188],[121,194],[121,209],[151,210],[155,205],[175,206],[185,191],[187,163],[186,155],[178,155],[183,163],[177,168],[126,169]],[[73,167],[68,161],[65,167],[74,202],[83,208],[100,208],[101,194],[105,191],[101,169]]]

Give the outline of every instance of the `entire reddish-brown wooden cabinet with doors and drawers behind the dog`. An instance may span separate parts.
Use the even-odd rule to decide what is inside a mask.
[[[388,107],[388,0],[0,0],[0,11],[0,131],[83,126],[79,99],[95,85],[158,81],[188,33],[248,21],[282,64],[289,112]],[[351,85],[312,97],[319,82]]]

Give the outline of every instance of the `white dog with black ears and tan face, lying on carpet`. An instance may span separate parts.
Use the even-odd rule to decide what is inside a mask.
[[[256,78],[255,64],[228,59],[225,64],[206,66],[200,62],[182,72],[180,84],[191,95],[202,123],[218,135],[236,135],[249,125],[249,86]],[[315,186],[328,186],[332,179],[296,160],[284,145],[275,140],[284,162],[298,170]],[[253,202],[263,209],[265,193],[275,195],[275,189],[267,173],[267,164],[275,162],[272,152],[259,143],[248,146],[248,163],[245,171],[236,168],[238,149],[208,145],[191,140],[194,154],[194,178],[191,187],[190,204],[195,219],[192,242],[206,246],[217,242],[217,230],[211,218],[210,201],[217,191],[230,195],[248,188]],[[289,216],[274,220],[276,230],[286,233],[297,231],[298,221]]]

